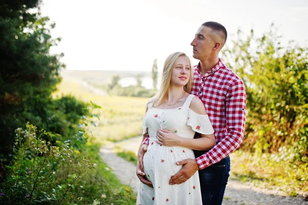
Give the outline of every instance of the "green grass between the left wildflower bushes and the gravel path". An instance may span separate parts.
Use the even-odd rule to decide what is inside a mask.
[[[99,148],[98,144],[87,145],[84,154],[91,158],[95,169],[76,181],[70,199],[64,204],[92,204],[94,199],[100,201],[100,204],[136,204],[136,194],[113,174],[101,159]],[[83,200],[76,200],[78,197],[83,197]]]

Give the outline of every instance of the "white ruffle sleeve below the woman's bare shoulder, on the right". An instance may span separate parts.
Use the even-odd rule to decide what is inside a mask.
[[[214,129],[209,121],[208,115],[197,114],[190,108],[188,108],[187,125],[191,126],[195,132],[203,135],[214,133]]]

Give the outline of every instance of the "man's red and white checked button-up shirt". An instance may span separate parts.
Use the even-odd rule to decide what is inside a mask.
[[[200,63],[195,66],[191,94],[203,102],[214,128],[216,145],[196,159],[200,170],[233,153],[243,142],[246,121],[246,91],[242,81],[219,59],[202,76]],[[146,138],[143,144],[148,144]]]

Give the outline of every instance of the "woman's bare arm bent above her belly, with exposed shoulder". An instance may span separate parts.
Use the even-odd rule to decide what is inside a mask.
[[[195,97],[192,98],[189,108],[200,115],[207,115],[202,101]],[[187,139],[177,136],[175,133],[166,129],[160,129],[157,135],[157,143],[164,146],[182,146],[191,150],[210,150],[216,145],[214,134],[203,135],[198,139]]]

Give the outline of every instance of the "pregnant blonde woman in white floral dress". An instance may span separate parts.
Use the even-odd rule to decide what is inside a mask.
[[[198,172],[181,184],[169,185],[169,179],[181,169],[177,161],[195,159],[192,150],[209,150],[215,142],[214,129],[201,100],[190,95],[192,70],[185,53],[169,55],[163,67],[158,95],[147,102],[142,128],[149,135],[143,158],[144,173],[153,187],[140,183],[137,204],[202,204]],[[180,136],[175,146],[158,141],[160,129]],[[195,132],[201,138],[194,139]]]

